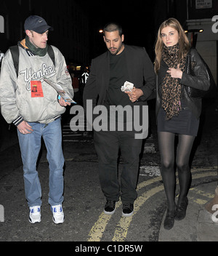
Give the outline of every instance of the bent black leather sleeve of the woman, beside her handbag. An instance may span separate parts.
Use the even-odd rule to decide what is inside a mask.
[[[191,51],[191,61],[195,63],[193,73],[183,73],[180,83],[196,89],[207,91],[210,87],[210,81],[206,72],[206,66],[203,63],[203,60],[201,60],[198,52],[195,49],[192,49]]]

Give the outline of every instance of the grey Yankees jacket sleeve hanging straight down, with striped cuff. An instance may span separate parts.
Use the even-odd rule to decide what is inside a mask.
[[[8,50],[1,63],[0,76],[0,104],[1,114],[8,124],[15,121],[16,125],[23,121],[19,114],[16,101],[17,75],[12,60],[11,52]]]

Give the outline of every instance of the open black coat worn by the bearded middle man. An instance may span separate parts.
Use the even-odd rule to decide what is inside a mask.
[[[155,73],[153,63],[145,48],[125,45],[126,65],[129,81],[134,87],[142,89],[144,95],[135,105],[148,105],[147,100],[156,97]],[[93,100],[94,105],[104,105],[110,79],[110,52],[92,60],[89,79],[84,89],[84,107],[86,100]]]

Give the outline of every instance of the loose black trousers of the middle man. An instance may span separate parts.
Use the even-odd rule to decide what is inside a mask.
[[[134,138],[135,132],[94,132],[94,147],[97,151],[100,185],[107,200],[134,203],[137,199],[142,139]],[[121,182],[118,179],[118,153],[124,160]]]

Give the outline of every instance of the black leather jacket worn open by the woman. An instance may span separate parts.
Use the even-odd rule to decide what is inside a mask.
[[[200,55],[196,49],[190,49],[191,62],[194,63],[193,74],[183,73],[182,79],[178,79],[179,84],[182,84],[182,103],[186,108],[196,116],[197,119],[201,116],[202,100],[199,98],[191,98],[187,95],[185,85],[207,91],[210,87],[210,82],[206,73],[205,65],[203,64]],[[163,81],[166,71],[169,67],[161,60],[161,67],[156,77],[156,117],[161,108],[161,82]],[[186,70],[186,67],[185,67]]]

